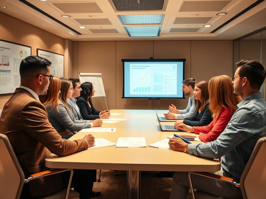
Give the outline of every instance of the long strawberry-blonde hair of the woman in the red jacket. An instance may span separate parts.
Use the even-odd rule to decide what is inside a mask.
[[[236,111],[236,105],[241,101],[239,96],[235,96],[232,79],[228,75],[215,76],[209,81],[210,105],[209,110],[212,117],[219,115],[223,108],[229,107]]]

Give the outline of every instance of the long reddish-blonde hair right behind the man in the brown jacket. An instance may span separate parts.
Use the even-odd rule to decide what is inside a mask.
[[[58,112],[58,105],[60,103],[58,92],[60,88],[61,80],[58,77],[53,76],[53,79],[48,86],[47,94],[39,96],[40,102],[45,108],[50,106],[52,111],[56,110]]]

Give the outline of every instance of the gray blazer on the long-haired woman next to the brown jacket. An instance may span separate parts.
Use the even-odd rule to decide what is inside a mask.
[[[64,131],[70,131],[77,133],[83,128],[90,128],[90,123],[87,123],[87,120],[76,120],[73,113],[69,113],[66,110],[65,105],[59,104],[57,112],[56,110],[52,111],[51,107],[46,108],[48,113],[48,120],[55,128],[55,130],[60,133]]]

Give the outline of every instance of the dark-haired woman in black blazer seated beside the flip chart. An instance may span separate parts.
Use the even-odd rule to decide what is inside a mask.
[[[94,109],[92,105],[92,96],[94,96],[94,88],[92,83],[84,82],[80,85],[82,89],[80,92],[80,97],[77,99],[77,105],[80,108],[81,117],[84,120],[95,120],[95,119],[103,119],[108,118],[110,116],[110,111],[97,111]]]

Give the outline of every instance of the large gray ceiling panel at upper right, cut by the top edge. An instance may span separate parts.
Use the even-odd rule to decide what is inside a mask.
[[[184,1],[179,12],[221,11],[231,1]]]

